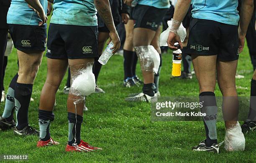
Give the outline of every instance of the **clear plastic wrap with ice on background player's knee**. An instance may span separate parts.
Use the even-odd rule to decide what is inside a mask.
[[[160,65],[159,53],[152,45],[135,47],[141,70],[157,74]]]

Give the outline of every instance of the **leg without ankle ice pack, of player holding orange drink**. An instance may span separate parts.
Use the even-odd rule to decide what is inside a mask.
[[[203,143],[206,147],[214,146],[214,144],[217,143],[216,116],[218,108],[214,94],[216,84],[216,60],[217,55],[192,55],[192,63],[199,83],[199,99],[203,104],[201,112],[206,114],[206,116],[202,117],[206,131],[206,140],[203,141]],[[200,151],[201,148],[200,146],[193,147],[196,151]],[[205,150],[205,148],[203,148],[202,151],[203,150]]]

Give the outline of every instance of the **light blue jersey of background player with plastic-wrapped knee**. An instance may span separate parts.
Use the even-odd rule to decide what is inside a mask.
[[[169,0],[138,0],[139,5],[153,6],[156,8],[169,8]]]

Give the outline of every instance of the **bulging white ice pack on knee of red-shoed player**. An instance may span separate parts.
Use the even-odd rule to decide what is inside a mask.
[[[79,92],[77,95],[89,96],[95,91],[95,76],[92,73],[93,64],[88,64],[86,69],[81,69],[74,78],[71,89],[75,89]]]

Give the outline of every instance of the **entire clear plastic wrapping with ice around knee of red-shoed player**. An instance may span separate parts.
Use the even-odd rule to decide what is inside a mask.
[[[74,101],[84,101],[85,96],[89,96],[95,91],[95,76],[92,73],[93,62],[70,66],[71,87],[69,93],[76,96]]]

